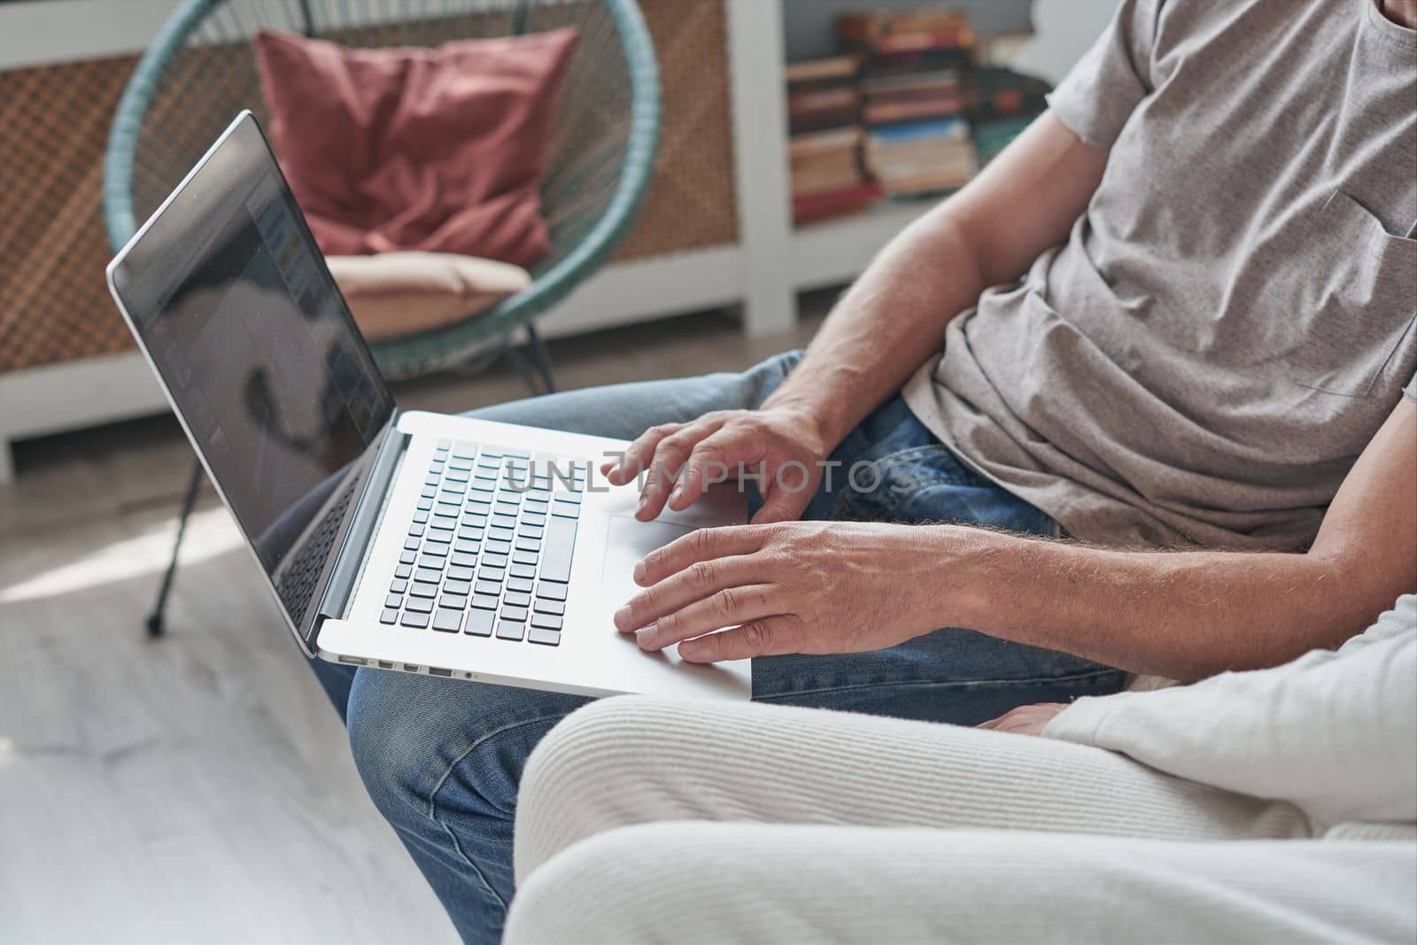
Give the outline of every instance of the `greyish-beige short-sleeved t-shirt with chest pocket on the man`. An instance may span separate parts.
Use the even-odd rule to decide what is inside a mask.
[[[1305,547],[1417,400],[1417,33],[1374,0],[1124,0],[1051,108],[1102,183],[905,401],[1078,538]]]

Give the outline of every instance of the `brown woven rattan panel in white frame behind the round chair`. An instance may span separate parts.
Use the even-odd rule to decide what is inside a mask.
[[[640,7],[659,58],[663,120],[655,179],[618,259],[730,244],[738,232],[723,0],[640,0]],[[171,68],[193,77],[201,68],[194,60],[205,55],[251,52],[183,51]],[[135,61],[0,72],[0,371],[133,346],[103,283],[111,254],[101,190],[109,123]],[[183,108],[187,88],[193,84],[166,85],[153,111]],[[190,122],[183,149],[200,154],[224,125],[225,116]],[[139,210],[167,187],[135,180]]]

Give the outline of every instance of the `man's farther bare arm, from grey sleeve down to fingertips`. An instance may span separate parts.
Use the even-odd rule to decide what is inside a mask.
[[[656,426],[602,470],[616,485],[649,472],[636,513],[643,520],[666,503],[691,504],[714,468],[761,465],[774,482],[781,465],[802,463],[819,476],[818,463],[846,434],[939,351],[952,317],[1067,238],[1105,164],[1105,150],[1043,115],[968,187],[881,249],[761,409]],[[754,521],[796,519],[815,485],[769,490]]]

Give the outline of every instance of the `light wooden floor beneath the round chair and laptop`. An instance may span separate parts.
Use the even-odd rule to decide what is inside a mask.
[[[820,309],[825,299],[812,306]],[[723,313],[553,344],[563,387],[745,367]],[[405,408],[520,397],[516,374]],[[188,531],[145,639],[191,458],[171,418],[21,445],[0,487],[0,942],[451,942],[227,513]]]

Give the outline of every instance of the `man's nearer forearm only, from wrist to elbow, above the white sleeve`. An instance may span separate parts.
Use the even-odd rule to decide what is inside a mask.
[[[1340,555],[1112,551],[938,528],[941,626],[1169,679],[1338,646],[1410,589]]]

